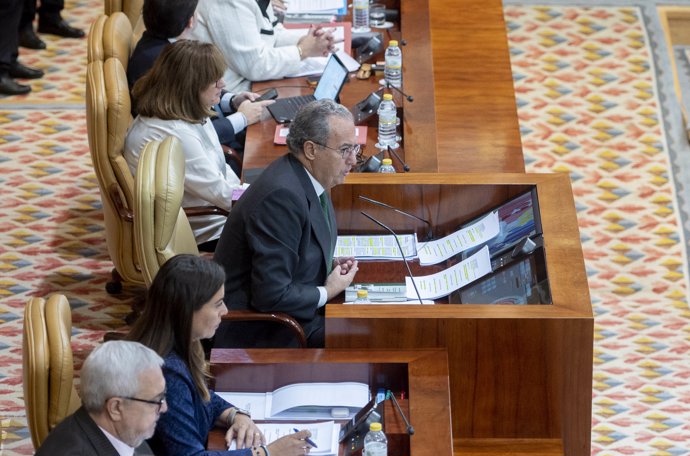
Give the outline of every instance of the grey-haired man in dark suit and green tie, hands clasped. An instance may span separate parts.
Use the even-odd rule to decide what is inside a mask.
[[[233,206],[214,258],[225,267],[229,308],[285,312],[319,347],[323,305],[357,271],[351,258],[333,261],[337,226],[328,197],[357,161],[352,115],[332,100],[312,102],[290,124],[287,144],[289,153]],[[216,334],[216,346],[289,346],[290,339],[275,325],[233,322]]]

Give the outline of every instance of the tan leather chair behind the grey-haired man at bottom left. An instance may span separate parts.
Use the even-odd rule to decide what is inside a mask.
[[[72,314],[63,295],[31,298],[24,308],[24,403],[34,448],[81,405],[74,388]]]

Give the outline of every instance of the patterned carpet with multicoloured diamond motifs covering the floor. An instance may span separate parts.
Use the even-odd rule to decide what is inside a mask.
[[[86,29],[102,5],[68,0],[66,11]],[[683,217],[643,10],[511,4],[505,16],[528,171],[573,182],[597,315],[592,453],[688,455]],[[27,97],[0,98],[3,455],[32,454],[21,393],[27,298],[68,296],[78,367],[139,291],[104,291],[112,264],[88,156],[86,43],[46,38],[48,50],[21,53],[46,77]]]

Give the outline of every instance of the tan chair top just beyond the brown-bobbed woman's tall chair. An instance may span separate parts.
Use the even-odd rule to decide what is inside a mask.
[[[115,57],[126,72],[133,49],[132,40],[132,24],[124,13],[100,15],[89,29],[87,62]]]

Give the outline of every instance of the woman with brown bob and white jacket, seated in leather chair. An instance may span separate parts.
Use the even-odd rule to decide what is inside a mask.
[[[225,60],[210,43],[180,40],[167,46],[132,93],[139,115],[125,139],[124,156],[136,174],[139,156],[152,140],[175,136],[185,156],[183,207],[230,210],[240,179],[226,164],[209,117],[225,84]],[[190,217],[199,249],[213,251],[226,217]]]

